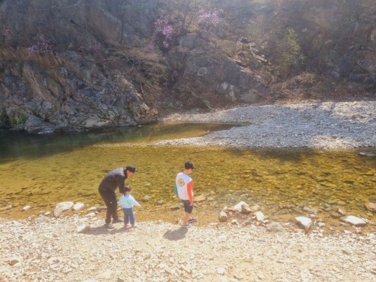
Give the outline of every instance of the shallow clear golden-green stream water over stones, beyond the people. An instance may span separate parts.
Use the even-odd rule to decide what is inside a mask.
[[[196,127],[197,126],[197,127]],[[193,125],[191,136],[207,128]],[[195,195],[208,200],[197,203],[200,221],[217,221],[224,206],[244,200],[260,205],[271,219],[291,219],[306,215],[303,207],[318,210],[317,218],[340,226],[330,214],[339,207],[347,214],[376,221],[364,203],[376,201],[376,159],[360,156],[357,150],[249,149],[223,147],[147,146],[142,142],[181,138],[187,132],[138,137],[124,142],[100,142],[33,158],[0,163],[0,194],[3,206],[12,203],[55,204],[66,200],[103,205],[97,189],[103,176],[113,168],[135,164],[138,174],[127,184],[140,202],[145,195],[139,219],[175,220],[182,210],[168,208],[179,204],[174,198],[174,180],[186,159],[195,163],[192,173]],[[135,145],[135,141],[137,141]],[[163,200],[162,205],[157,202]],[[25,216],[22,206],[9,215]],[[44,208],[45,209],[45,208]],[[35,213],[35,212],[34,212]],[[3,212],[0,212],[0,215]],[[374,227],[369,227],[374,228]]]

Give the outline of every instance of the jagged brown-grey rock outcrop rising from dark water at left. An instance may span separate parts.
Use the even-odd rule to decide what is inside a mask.
[[[126,77],[106,75],[90,56],[75,51],[29,56],[26,48],[18,48],[0,50],[0,58],[5,68],[0,100],[17,129],[82,131],[155,119],[156,112]],[[17,69],[12,69],[14,61]]]

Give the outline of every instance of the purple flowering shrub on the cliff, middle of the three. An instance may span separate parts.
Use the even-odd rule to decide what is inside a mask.
[[[154,33],[147,49],[154,51],[157,46],[168,50],[171,47],[174,28],[168,18],[160,18],[154,22]]]

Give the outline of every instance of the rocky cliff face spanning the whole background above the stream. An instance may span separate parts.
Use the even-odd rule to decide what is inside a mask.
[[[262,26],[259,34],[294,27],[307,68],[374,93],[375,6],[366,0],[6,0],[0,4],[0,126],[81,131],[150,123],[158,111],[262,101],[281,79],[277,52],[268,39],[249,35],[249,23]],[[202,9],[221,17],[211,30],[199,22]],[[166,16],[174,28],[169,48],[147,50],[155,20]]]

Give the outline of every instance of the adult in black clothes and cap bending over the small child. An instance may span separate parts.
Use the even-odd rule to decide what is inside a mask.
[[[119,187],[120,193],[123,192],[124,181],[136,174],[136,167],[129,165],[126,168],[117,168],[110,171],[99,184],[99,194],[107,206],[106,227],[114,228],[112,223],[122,222],[117,214],[117,200],[115,195],[116,187]],[[111,223],[112,218],[112,223]]]

